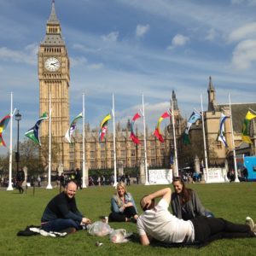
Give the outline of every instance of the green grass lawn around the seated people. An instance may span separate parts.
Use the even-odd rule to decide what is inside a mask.
[[[138,202],[143,195],[164,185],[133,185],[129,192]],[[256,220],[256,183],[189,184],[200,195],[205,207],[216,217],[226,218],[236,223],[244,223],[250,216]],[[79,210],[92,221],[102,215],[108,216],[112,187],[92,187],[77,192]],[[113,244],[109,236],[90,236],[81,230],[63,238],[44,236],[16,236],[27,225],[39,225],[44,207],[57,193],[58,189],[36,188],[20,195],[17,190],[0,190],[0,255],[256,255],[255,239],[234,239],[213,241],[207,247],[143,247],[138,241]],[[141,210],[139,209],[141,212]],[[136,224],[111,223],[113,229],[124,228],[136,232]],[[96,247],[96,241],[103,245]]]

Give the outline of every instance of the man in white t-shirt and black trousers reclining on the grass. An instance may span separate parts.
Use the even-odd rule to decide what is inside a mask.
[[[253,219],[246,224],[233,224],[224,218],[199,216],[191,220],[176,218],[168,211],[172,190],[160,189],[141,200],[143,214],[137,218],[137,231],[143,245],[152,238],[165,243],[205,243],[221,238],[256,237]],[[161,198],[155,204],[155,198]]]

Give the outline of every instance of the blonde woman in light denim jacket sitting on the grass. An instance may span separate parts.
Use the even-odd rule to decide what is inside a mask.
[[[127,192],[125,183],[117,183],[116,194],[111,198],[109,221],[136,222],[137,218],[137,207],[131,193]]]

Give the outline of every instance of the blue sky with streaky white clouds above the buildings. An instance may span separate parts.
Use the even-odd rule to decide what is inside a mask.
[[[40,116],[38,46],[51,0],[0,0],[0,119],[20,110],[20,140]],[[207,109],[209,76],[218,103],[255,102],[256,0],[55,0],[71,62],[70,121],[82,111],[98,127],[112,109],[125,124],[142,108],[149,131],[172,90],[189,118]],[[142,122],[140,120],[139,122]],[[138,124],[140,125],[140,124]],[[10,124],[3,133],[9,151]],[[17,121],[13,121],[13,148]]]

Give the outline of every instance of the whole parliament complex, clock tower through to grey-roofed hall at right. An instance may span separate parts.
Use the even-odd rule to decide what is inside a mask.
[[[70,63],[67,47],[61,37],[61,23],[55,13],[55,1],[52,1],[49,19],[46,24],[44,40],[38,49],[38,79],[39,79],[39,108],[40,113],[49,113],[51,108],[51,137],[53,143],[58,145],[55,152],[55,160],[52,161],[52,170],[62,166],[64,171],[81,168],[83,163],[83,137],[78,131],[73,134],[72,143],[67,143],[64,135],[69,128],[69,87],[70,87]],[[171,99],[170,99],[171,100]],[[172,104],[175,116],[175,137],[177,140],[177,159],[179,166],[185,166],[195,157],[200,160],[203,156],[202,122],[198,120],[191,126],[191,145],[184,146],[182,135],[186,126],[186,119],[183,119],[177,106],[177,98],[172,90]],[[49,107],[50,106],[50,107]],[[171,108],[171,103],[170,103]],[[241,125],[247,109],[256,110],[255,103],[232,104],[233,129],[235,147],[247,150],[247,154],[255,154],[256,127],[253,121],[252,145],[242,145]],[[210,164],[223,164],[224,160],[231,156],[232,140],[230,118],[225,124],[226,139],[230,148],[225,148],[216,140],[218,136],[220,113],[225,110],[230,113],[228,104],[218,105],[216,102],[216,91],[209,79],[208,85],[208,108],[203,112],[205,124],[206,146]],[[113,168],[113,134],[108,131],[106,137],[99,143],[99,134],[96,129],[90,129],[85,125],[85,165],[87,169],[111,169]],[[146,143],[148,155],[148,167],[170,168],[172,156],[174,155],[174,141],[172,119],[164,129],[165,142],[160,143],[154,137],[152,131],[146,129]],[[130,138],[130,127],[127,120],[126,127],[116,125],[116,162],[124,168],[138,167],[144,161],[143,134],[137,131],[137,137],[142,143],[135,144]],[[49,119],[45,120],[40,127],[41,142],[47,144],[49,137]],[[198,149],[198,150],[197,150]],[[197,151],[196,151],[197,150]],[[210,152],[211,151],[211,152]],[[244,151],[245,152],[245,151]]]

